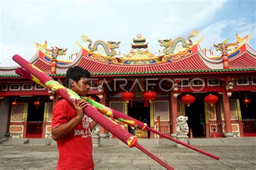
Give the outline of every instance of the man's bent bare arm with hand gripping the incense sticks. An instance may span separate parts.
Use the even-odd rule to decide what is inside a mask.
[[[76,126],[80,123],[80,121],[82,121],[82,118],[84,116],[83,110],[87,105],[88,104],[85,101],[80,101],[78,104],[76,104],[76,100],[75,100],[73,103],[73,106],[76,110],[77,116],[71,119],[69,122],[63,123],[57,126],[57,128],[51,129],[52,139],[57,141],[61,138],[64,138],[65,136],[68,136],[68,134],[70,134],[70,132],[74,128],[76,128]]]

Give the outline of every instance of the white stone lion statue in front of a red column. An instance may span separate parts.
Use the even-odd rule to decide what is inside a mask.
[[[176,130],[177,130],[177,137],[185,137],[187,138],[187,133],[188,133],[188,125],[187,125],[187,119],[188,117],[186,116],[179,116],[176,121]]]

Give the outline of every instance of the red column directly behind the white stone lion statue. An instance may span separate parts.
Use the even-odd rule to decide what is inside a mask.
[[[178,117],[178,103],[177,98],[173,96],[173,91],[171,91],[171,106],[172,106],[172,137],[177,137],[176,124]]]

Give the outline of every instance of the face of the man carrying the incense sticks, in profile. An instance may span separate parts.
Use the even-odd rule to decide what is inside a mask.
[[[79,96],[86,96],[90,90],[90,81],[86,77],[82,77],[77,83],[72,80],[71,89]]]

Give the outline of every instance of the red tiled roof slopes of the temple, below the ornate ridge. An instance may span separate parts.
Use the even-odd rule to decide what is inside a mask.
[[[244,48],[244,51],[242,51]],[[221,61],[208,59],[200,46],[194,46],[194,52],[177,60],[146,65],[119,65],[91,58],[87,51],[82,51],[79,57],[69,65],[58,65],[57,74],[51,76],[65,76],[66,70],[71,66],[80,66],[91,72],[92,76],[138,76],[138,75],[170,75],[170,74],[200,74],[200,73],[237,73],[256,72],[256,52],[248,45],[239,49],[239,53],[229,59],[230,69],[223,69]],[[37,52],[38,54],[38,52]],[[50,73],[50,62],[39,57],[31,62],[45,73]],[[0,68],[0,77],[16,76],[15,69]]]

